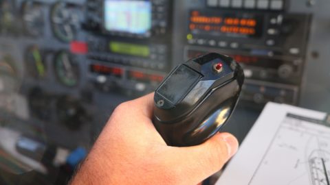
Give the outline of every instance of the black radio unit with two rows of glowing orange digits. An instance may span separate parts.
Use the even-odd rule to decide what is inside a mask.
[[[191,10],[188,45],[239,49],[265,56],[303,56],[308,14]]]

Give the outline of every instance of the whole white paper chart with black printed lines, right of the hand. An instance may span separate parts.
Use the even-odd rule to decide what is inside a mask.
[[[330,185],[330,125],[324,118],[321,112],[267,105],[217,184]]]

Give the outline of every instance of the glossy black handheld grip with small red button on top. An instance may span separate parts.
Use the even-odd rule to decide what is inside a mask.
[[[228,121],[243,81],[241,66],[228,56],[192,58],[155,90],[153,124],[167,145],[199,145]]]

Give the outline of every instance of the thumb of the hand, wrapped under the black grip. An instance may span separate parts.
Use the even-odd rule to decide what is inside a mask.
[[[239,147],[237,139],[229,133],[219,133],[201,145],[181,147],[180,155],[186,175],[201,182],[219,171],[223,165],[236,153]]]

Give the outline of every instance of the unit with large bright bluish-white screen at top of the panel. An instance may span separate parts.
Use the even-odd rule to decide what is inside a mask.
[[[111,36],[151,38],[167,34],[169,0],[87,0],[85,29]]]

